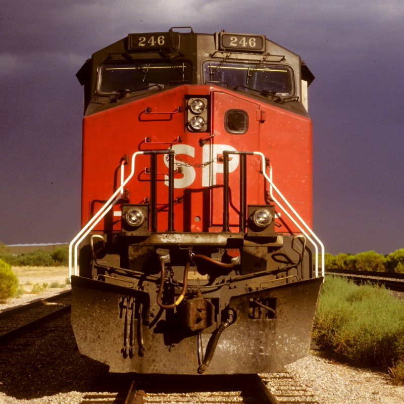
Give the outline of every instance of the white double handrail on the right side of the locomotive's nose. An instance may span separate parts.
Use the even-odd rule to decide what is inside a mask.
[[[270,184],[270,195],[272,200],[275,202],[276,205],[286,214],[286,216],[294,223],[294,225],[312,242],[316,249],[316,263],[315,263],[315,272],[316,272],[316,277],[318,276],[318,247],[317,244],[313,241],[313,239],[304,231],[304,229],[294,220],[294,218],[286,211],[286,209],[279,204],[279,201],[276,200],[276,198],[272,194],[272,188],[275,189],[276,193],[280,196],[280,198],[284,201],[286,206],[293,212],[293,214],[296,216],[296,218],[300,221],[302,225],[306,227],[306,229],[309,231],[309,233],[317,240],[317,242],[321,246],[321,276],[324,276],[324,245],[320,241],[320,239],[314,234],[313,230],[306,224],[306,222],[298,215],[298,213],[294,210],[294,208],[289,204],[289,202],[286,200],[286,198],[282,195],[282,193],[279,191],[279,189],[274,185],[272,182],[272,175],[271,178],[268,177],[266,171],[265,171],[265,157],[262,153],[259,151],[254,151],[255,155],[261,156],[262,160],[262,172],[264,177],[267,179],[267,181]]]

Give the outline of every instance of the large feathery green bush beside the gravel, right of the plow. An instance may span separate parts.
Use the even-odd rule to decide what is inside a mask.
[[[404,360],[404,302],[382,287],[327,276],[313,339],[345,362],[377,364],[399,374]]]

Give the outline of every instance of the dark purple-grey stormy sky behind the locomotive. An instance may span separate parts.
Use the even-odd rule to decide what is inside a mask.
[[[403,22],[401,0],[2,0],[0,240],[79,231],[84,61],[129,32],[191,25],[265,34],[316,76],[313,229],[326,250],[404,247]]]

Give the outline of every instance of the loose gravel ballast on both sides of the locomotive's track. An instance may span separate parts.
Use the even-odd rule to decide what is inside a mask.
[[[13,304],[2,309],[5,306]],[[51,333],[33,340],[0,367],[1,404],[79,404],[86,393],[118,393],[128,388],[130,376],[111,375],[108,366],[80,355],[70,315],[52,325]],[[404,402],[404,386],[393,385],[388,374],[336,364],[318,352],[286,369],[323,404]]]

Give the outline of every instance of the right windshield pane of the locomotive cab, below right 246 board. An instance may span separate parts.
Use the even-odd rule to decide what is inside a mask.
[[[259,63],[204,63],[205,84],[216,83],[231,88],[237,85],[277,95],[293,94],[292,69]]]

